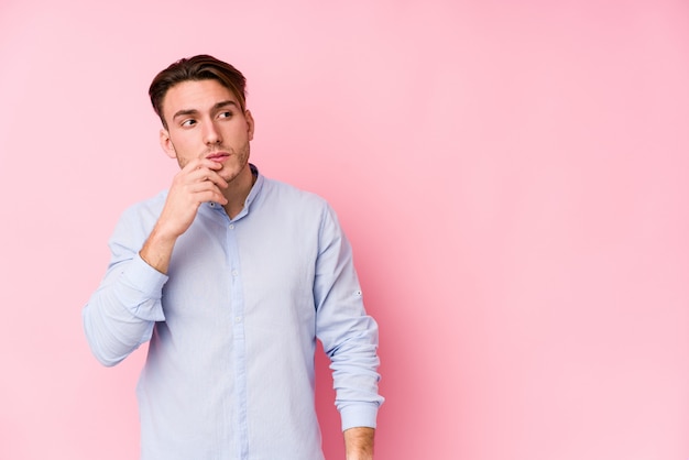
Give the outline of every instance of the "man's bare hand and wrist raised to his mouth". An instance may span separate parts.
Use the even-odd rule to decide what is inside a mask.
[[[175,175],[163,211],[139,252],[149,265],[167,273],[175,242],[192,226],[201,204],[227,205],[222,190],[228,184],[216,172],[221,167],[210,160],[194,160]]]

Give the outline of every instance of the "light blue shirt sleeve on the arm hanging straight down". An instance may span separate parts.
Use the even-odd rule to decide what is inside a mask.
[[[378,324],[365,313],[351,247],[328,206],[320,228],[314,298],[317,336],[330,358],[342,430],[375,428],[384,401],[378,391]]]

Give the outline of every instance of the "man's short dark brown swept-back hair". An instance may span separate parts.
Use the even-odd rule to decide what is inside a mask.
[[[183,81],[217,80],[228,88],[237,98],[242,112],[247,110],[247,78],[241,72],[228,63],[216,59],[207,54],[185,57],[172,64],[153,78],[149,87],[149,96],[153,110],[167,128],[163,117],[163,99],[167,90]]]

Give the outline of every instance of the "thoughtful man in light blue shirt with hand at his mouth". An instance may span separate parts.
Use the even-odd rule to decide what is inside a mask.
[[[350,245],[330,207],[249,163],[245,79],[181,59],[149,94],[181,171],[134,205],[84,308],[114,365],[150,341],[136,388],[144,460],[322,459],[316,339],[331,360],[347,459],[371,459],[380,376]]]

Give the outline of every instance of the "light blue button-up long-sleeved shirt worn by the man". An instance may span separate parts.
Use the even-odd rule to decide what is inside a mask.
[[[105,365],[150,341],[136,387],[142,460],[322,459],[316,339],[342,429],[375,427],[378,326],[328,204],[258,174],[234,219],[200,206],[163,275],[138,253],[166,196],[123,213],[83,311]]]

